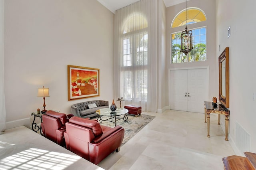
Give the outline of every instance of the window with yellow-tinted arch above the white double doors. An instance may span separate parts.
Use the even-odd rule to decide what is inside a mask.
[[[172,28],[186,24],[186,10],[182,10],[172,21]],[[204,12],[198,8],[188,8],[187,24],[194,24],[206,20]],[[180,27],[183,29],[183,27]],[[189,29],[193,35],[193,49],[188,55],[180,52],[181,32],[171,34],[171,63],[206,61],[206,27]]]

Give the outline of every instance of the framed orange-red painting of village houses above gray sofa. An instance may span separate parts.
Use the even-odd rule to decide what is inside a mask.
[[[100,96],[100,69],[68,65],[68,101]]]

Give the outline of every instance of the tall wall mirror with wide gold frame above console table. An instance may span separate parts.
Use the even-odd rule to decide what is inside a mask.
[[[219,101],[229,107],[229,47],[219,57]]]

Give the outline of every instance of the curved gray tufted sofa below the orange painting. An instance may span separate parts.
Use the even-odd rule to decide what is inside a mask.
[[[95,103],[97,107],[89,109],[88,104],[92,104],[92,103]],[[108,108],[108,107],[109,107],[108,101],[103,101],[103,100],[85,101],[82,103],[76,103],[74,105],[71,105],[71,113],[77,117],[91,118],[91,117],[97,116],[95,111],[102,108]]]

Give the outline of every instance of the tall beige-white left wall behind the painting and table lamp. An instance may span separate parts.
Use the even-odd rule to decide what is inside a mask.
[[[46,109],[70,113],[74,103],[113,99],[114,14],[96,0],[6,0],[6,121]],[[100,69],[100,97],[68,101],[67,65]]]

